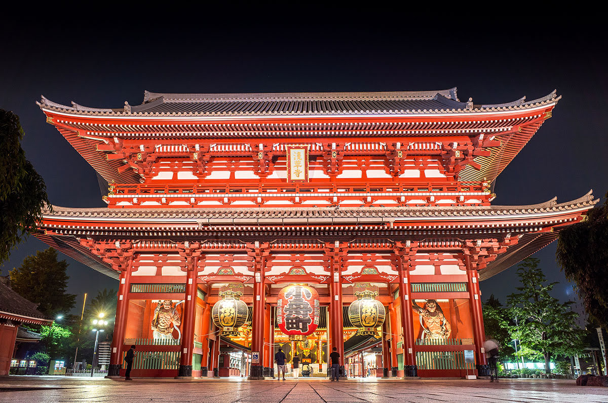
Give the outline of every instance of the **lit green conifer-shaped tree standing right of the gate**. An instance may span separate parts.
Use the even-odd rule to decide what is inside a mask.
[[[519,326],[513,328],[513,336],[522,345],[522,354],[538,351],[545,359],[545,371],[550,373],[552,356],[570,356],[581,352],[583,331],[576,328],[578,314],[570,309],[572,301],[560,303],[550,295],[557,282],[547,283],[540,261],[525,259],[517,268],[522,282],[516,287],[518,293],[508,296],[511,318],[519,319]]]

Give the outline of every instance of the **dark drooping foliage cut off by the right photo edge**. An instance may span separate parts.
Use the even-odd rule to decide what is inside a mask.
[[[556,255],[566,278],[576,284],[587,314],[608,331],[608,203],[589,210],[586,217],[559,231]]]

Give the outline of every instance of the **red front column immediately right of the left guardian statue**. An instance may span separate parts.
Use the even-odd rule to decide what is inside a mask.
[[[193,258],[193,262],[188,264],[186,276],[186,292],[184,301],[184,319],[182,323],[182,351],[179,362],[178,377],[192,376],[192,349],[194,348],[194,324],[196,320],[196,296],[198,287],[196,286],[196,275],[198,271],[198,258]]]

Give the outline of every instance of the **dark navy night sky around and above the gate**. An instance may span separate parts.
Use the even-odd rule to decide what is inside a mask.
[[[74,100],[120,108],[125,100],[139,105],[145,89],[264,93],[457,86],[461,100],[472,97],[475,103],[524,95],[531,100],[557,89],[563,99],[553,117],[499,176],[493,204],[533,204],[553,196],[568,201],[589,189],[603,198],[608,191],[608,47],[599,24],[516,18],[482,26],[452,16],[404,18],[391,10],[357,18],[328,15],[338,10],[299,10],[281,18],[276,7],[274,14],[254,18],[254,9],[235,17],[236,8],[118,20],[95,19],[95,12],[63,17],[54,9],[40,20],[16,18],[0,27],[0,108],[21,117],[22,146],[54,205],[105,203],[95,171],[46,124],[35,101],[44,94],[65,105]],[[12,252],[2,275],[43,248],[31,237]],[[561,283],[555,296],[572,296],[555,263],[555,243],[535,256],[548,278]],[[95,295],[117,288],[115,280],[64,258],[70,264],[69,292]],[[510,268],[482,283],[483,299],[494,293],[504,302],[516,284]]]

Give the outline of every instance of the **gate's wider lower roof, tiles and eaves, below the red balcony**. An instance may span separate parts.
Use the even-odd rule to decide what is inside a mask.
[[[345,234],[367,233],[423,239],[432,237],[492,237],[513,234],[519,242],[512,245],[480,270],[486,279],[506,270],[547,246],[564,226],[578,220],[598,200],[592,192],[566,203],[556,199],[525,206],[475,207],[362,207],[362,208],[215,208],[215,209],[72,209],[53,206],[43,213],[44,222],[36,237],[71,258],[105,273],[118,274],[102,258],[80,244],[81,237],[156,241],[219,239],[243,237],[277,239],[282,233],[298,234],[298,239],[331,231]],[[549,232],[548,230],[551,230]],[[289,232],[291,231],[291,232]],[[297,231],[297,232],[294,232]],[[367,232],[366,232],[367,231]],[[393,231],[393,232],[391,232]],[[289,237],[289,236],[287,236]]]

